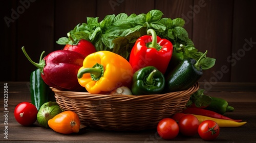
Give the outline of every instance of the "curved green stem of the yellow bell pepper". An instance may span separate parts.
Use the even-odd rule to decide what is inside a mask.
[[[80,79],[84,74],[91,74],[91,78],[94,81],[99,80],[104,73],[103,65],[96,63],[93,67],[83,68],[81,69],[78,74],[77,78]]]

